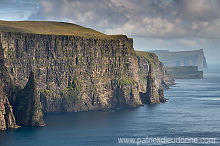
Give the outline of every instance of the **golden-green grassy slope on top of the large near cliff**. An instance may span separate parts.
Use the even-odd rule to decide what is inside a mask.
[[[0,21],[0,32],[21,32],[46,35],[71,35],[96,39],[118,39],[124,35],[106,35],[80,25],[52,21]]]

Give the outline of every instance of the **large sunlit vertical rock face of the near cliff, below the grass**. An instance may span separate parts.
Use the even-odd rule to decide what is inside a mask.
[[[7,73],[16,86],[23,89],[34,72],[44,112],[141,104],[137,58],[125,36],[101,40],[2,33],[1,40]]]

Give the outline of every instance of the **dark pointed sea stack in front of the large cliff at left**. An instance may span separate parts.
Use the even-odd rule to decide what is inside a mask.
[[[30,72],[28,82],[16,97],[15,117],[21,126],[44,126],[43,113],[35,85],[34,73]]]

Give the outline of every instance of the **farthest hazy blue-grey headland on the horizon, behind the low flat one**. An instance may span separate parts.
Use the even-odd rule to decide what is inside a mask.
[[[207,68],[203,49],[194,51],[169,52],[168,50],[151,51],[159,56],[165,66],[198,66]]]

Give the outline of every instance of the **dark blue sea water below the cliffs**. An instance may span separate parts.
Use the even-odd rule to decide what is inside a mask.
[[[176,80],[177,84],[165,91],[170,100],[164,104],[108,112],[46,114],[45,127],[1,131],[0,145],[136,145],[119,144],[118,138],[154,137],[216,138],[217,141],[220,138],[220,65],[209,66],[204,70],[204,77]]]

